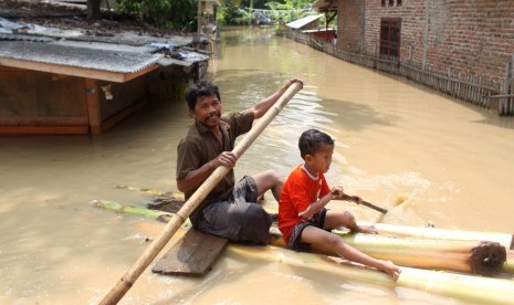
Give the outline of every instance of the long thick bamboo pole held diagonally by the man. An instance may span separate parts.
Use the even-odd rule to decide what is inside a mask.
[[[276,101],[276,103],[259,119],[255,126],[246,134],[246,136],[234,147],[232,152],[240,158],[250,145],[259,137],[262,130],[270,122],[282,111],[287,102],[302,88],[301,82],[293,83]],[[223,179],[230,171],[224,166],[218,167],[209,178],[197,189],[197,191],[186,201],[182,208],[174,214],[171,220],[166,224],[165,229],[158,238],[156,238],[136,263],[125,273],[118,283],[105,295],[99,304],[117,304],[119,299],[134,285],[139,275],[154,261],[162,248],[168,243],[171,236],[177,232],[180,225],[188,219],[201,201],[209,192]]]

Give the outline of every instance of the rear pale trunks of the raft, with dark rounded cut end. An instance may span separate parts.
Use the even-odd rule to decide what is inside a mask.
[[[151,194],[154,197],[153,202],[147,204],[151,210],[174,213],[183,203],[182,193],[130,186],[118,186],[117,188]],[[377,259],[390,260],[403,266],[422,269],[441,269],[483,275],[497,272],[514,274],[514,234],[511,233],[420,228],[364,221],[359,221],[358,224],[375,225],[379,235],[366,238],[360,234],[360,238],[357,238],[357,243],[354,241],[355,239],[352,240],[347,236],[346,242]],[[335,233],[345,236],[343,230],[335,230]],[[276,232],[274,232],[274,235],[276,235]],[[401,240],[397,239],[398,236],[415,239],[401,244]],[[444,243],[442,241],[450,242]],[[272,239],[271,242],[285,246],[277,238]],[[378,250],[379,244],[381,244],[382,251]],[[395,244],[395,250],[391,250],[388,246],[389,244]],[[463,248],[457,249],[458,244]],[[497,244],[505,248],[505,253]],[[453,246],[452,251],[449,251],[449,245]],[[397,253],[399,248],[402,248],[402,255]],[[428,252],[424,252],[427,250]],[[317,249],[316,251],[334,255],[334,253],[327,253],[327,250],[324,249]],[[484,260],[487,260],[487,262],[483,263]]]

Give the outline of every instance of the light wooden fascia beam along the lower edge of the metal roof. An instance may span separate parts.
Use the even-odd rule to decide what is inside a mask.
[[[111,72],[111,71],[104,71],[104,70],[94,70],[94,69],[87,69],[87,67],[66,66],[66,65],[61,65],[61,64],[31,62],[31,61],[25,61],[25,60],[0,57],[0,66],[1,65],[10,66],[10,67],[19,67],[23,70],[49,72],[53,74],[63,74],[63,75],[70,75],[70,76],[109,81],[109,82],[116,82],[116,83],[124,83],[124,82],[130,81],[150,71],[154,71],[158,67],[157,64],[153,64],[135,73],[122,73],[122,72]]]

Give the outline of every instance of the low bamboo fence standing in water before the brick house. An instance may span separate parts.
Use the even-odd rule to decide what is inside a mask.
[[[497,109],[501,116],[514,115],[514,55],[506,63],[505,76],[499,85],[486,77],[463,75],[450,70],[438,71],[427,66],[423,69],[421,63],[416,63],[411,59],[400,61],[392,56],[346,52],[335,48],[332,43],[296,31],[281,31],[277,34],[307,44],[337,59],[403,76],[457,99],[493,111]]]

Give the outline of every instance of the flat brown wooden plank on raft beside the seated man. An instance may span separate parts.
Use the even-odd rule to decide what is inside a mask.
[[[229,240],[189,229],[188,232],[154,265],[151,271],[164,275],[204,275],[221,255]]]

